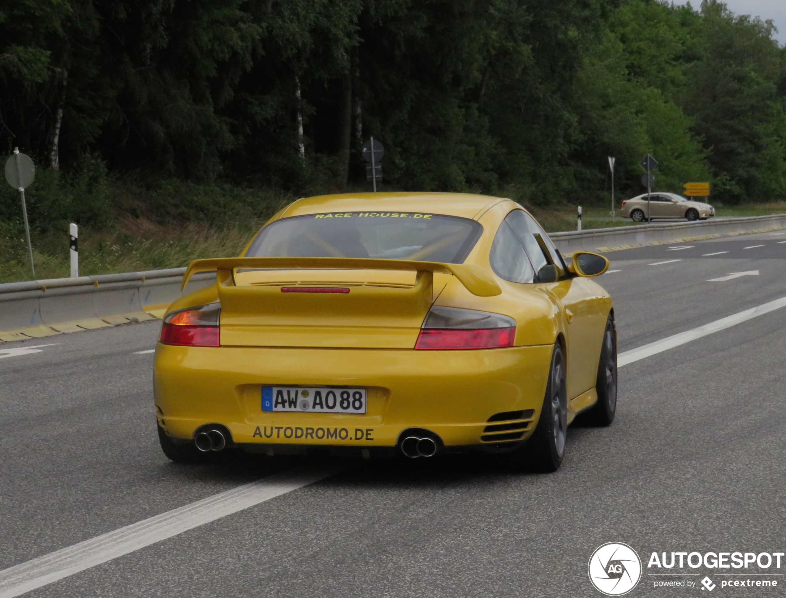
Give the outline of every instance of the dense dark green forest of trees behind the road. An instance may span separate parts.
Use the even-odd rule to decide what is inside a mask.
[[[772,34],[715,0],[5,0],[0,151],[83,222],[108,177],[365,189],[369,135],[385,189],[592,204],[652,152],[659,189],[782,200]]]

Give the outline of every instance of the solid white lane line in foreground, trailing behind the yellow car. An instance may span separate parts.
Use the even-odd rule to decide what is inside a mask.
[[[195,527],[308,486],[343,468],[278,473],[144,519],[0,571],[0,598],[12,598]]]

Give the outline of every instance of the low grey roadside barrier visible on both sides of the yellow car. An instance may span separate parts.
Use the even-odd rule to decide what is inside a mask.
[[[780,229],[786,229],[786,214],[567,231],[549,237],[563,253],[606,252]],[[171,268],[0,284],[0,341],[162,317],[175,299],[215,281],[215,273],[196,274],[181,292],[184,272]]]

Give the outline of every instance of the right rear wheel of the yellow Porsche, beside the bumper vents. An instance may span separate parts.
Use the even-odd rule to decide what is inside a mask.
[[[567,387],[565,358],[554,345],[538,424],[527,442],[512,454],[520,468],[550,473],[560,468],[567,442]]]

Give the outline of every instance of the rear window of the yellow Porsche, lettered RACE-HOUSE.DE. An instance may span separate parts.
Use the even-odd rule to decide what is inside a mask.
[[[468,218],[412,212],[292,216],[259,232],[245,256],[412,259],[460,264],[483,232]]]

